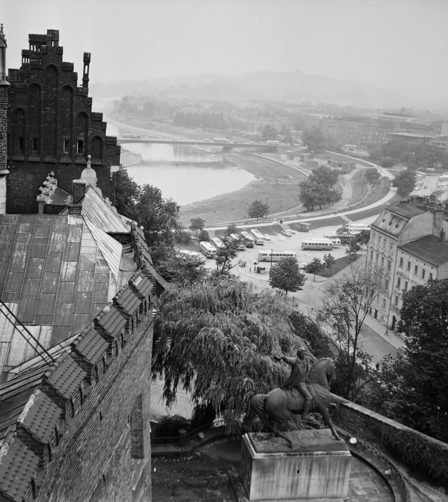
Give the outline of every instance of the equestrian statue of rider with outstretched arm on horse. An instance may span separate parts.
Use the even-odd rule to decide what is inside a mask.
[[[274,355],[277,361],[283,360],[291,366],[291,374],[286,382],[269,394],[257,394],[250,400],[250,407],[260,417],[267,430],[284,438],[289,447],[291,441],[279,431],[285,431],[291,415],[302,414],[302,420],[308,421],[308,413],[319,412],[338,441],[331,416],[337,406],[330,402],[329,380],[334,380],[335,362],[331,357],[323,357],[310,366],[306,347],[299,347],[297,357]],[[331,411],[329,412],[329,408]],[[276,427],[271,425],[276,423]]]

